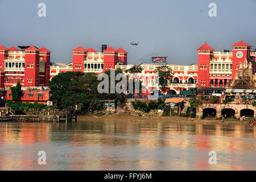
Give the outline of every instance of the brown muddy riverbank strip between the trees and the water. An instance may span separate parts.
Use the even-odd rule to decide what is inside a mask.
[[[78,122],[180,122],[180,123],[222,123],[220,119],[200,119],[179,116],[163,117],[162,113],[138,116],[135,114],[115,113],[110,115],[80,115],[77,117]],[[234,121],[232,119],[224,119],[225,123],[248,124],[248,121]]]

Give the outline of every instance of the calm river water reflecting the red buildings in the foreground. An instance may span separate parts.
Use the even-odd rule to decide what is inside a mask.
[[[46,165],[38,152],[46,152]],[[209,152],[217,164],[210,165]],[[256,127],[233,123],[1,123],[0,170],[256,170]]]

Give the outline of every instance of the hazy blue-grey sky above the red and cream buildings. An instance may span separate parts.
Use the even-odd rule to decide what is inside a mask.
[[[46,3],[46,17],[38,4]],[[208,15],[216,3],[217,17]],[[222,51],[241,39],[256,48],[256,1],[151,1],[151,0],[0,0],[0,45],[46,47],[51,61],[72,61],[72,49],[100,50],[101,44],[122,47],[139,42],[137,63],[151,55],[167,55],[168,63],[197,63],[196,49],[205,41]]]

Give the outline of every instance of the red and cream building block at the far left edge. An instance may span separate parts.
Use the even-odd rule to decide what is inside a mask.
[[[51,51],[35,46],[18,48],[0,46],[0,88],[18,81],[22,87],[48,86]]]

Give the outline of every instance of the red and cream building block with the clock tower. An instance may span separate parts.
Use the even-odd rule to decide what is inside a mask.
[[[251,46],[242,40],[232,45],[233,52],[214,51],[207,42],[198,51],[198,85],[199,87],[228,88],[234,81],[240,63],[251,63],[256,72],[255,59]],[[256,55],[255,55],[256,56]]]

